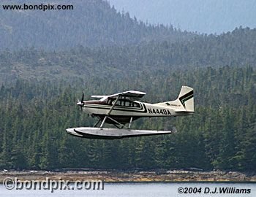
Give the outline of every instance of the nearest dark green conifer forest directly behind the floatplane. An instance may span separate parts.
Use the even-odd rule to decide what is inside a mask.
[[[138,77],[87,77],[67,82],[18,80],[0,89],[0,168],[173,169],[197,167],[255,171],[256,72],[252,67],[144,73]],[[170,136],[94,140],[66,128],[93,119],[75,105],[91,94],[146,91],[146,101],[175,99],[181,85],[195,88],[195,115],[136,120],[134,128],[178,129]]]

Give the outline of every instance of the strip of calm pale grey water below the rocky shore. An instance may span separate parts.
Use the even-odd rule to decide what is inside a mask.
[[[192,193],[178,193],[178,188],[202,188],[202,192]],[[236,189],[250,189],[250,193],[246,194],[217,194],[207,193],[208,189],[212,191],[217,188],[236,188]],[[195,190],[195,189],[194,189]],[[204,191],[206,190],[206,193]],[[0,185],[0,196],[4,197],[34,197],[34,196],[146,196],[146,197],[171,197],[171,196],[182,196],[182,197],[195,197],[195,196],[225,196],[225,197],[255,197],[256,196],[256,183],[105,183],[104,190],[54,190],[50,193],[50,190],[7,190],[4,185]]]

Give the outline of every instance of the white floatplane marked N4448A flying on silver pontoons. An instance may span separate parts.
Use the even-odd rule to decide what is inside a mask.
[[[77,105],[98,121],[93,127],[67,128],[67,133],[90,139],[121,139],[134,136],[173,134],[173,131],[131,129],[132,122],[140,117],[171,117],[194,113],[193,88],[182,86],[178,98],[149,104],[138,101],[146,93],[129,90],[108,96],[91,96],[97,100],[84,101],[84,93]],[[116,128],[105,128],[105,123]]]

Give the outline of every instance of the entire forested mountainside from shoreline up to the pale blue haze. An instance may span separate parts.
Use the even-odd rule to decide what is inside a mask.
[[[256,29],[199,35],[145,24],[107,1],[52,2],[75,9],[0,9],[0,169],[255,171]],[[65,132],[94,123],[76,106],[82,92],[141,90],[160,102],[181,85],[195,89],[194,115],[133,125],[177,134],[111,141]]]

